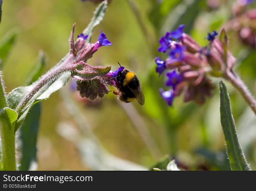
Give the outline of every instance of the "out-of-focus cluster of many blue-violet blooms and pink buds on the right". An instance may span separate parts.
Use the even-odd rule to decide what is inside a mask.
[[[158,51],[166,52],[168,57],[165,60],[155,58],[156,72],[159,76],[164,71],[169,71],[166,73],[166,86],[170,87],[170,90],[159,89],[169,106],[182,92],[185,102],[194,100],[199,104],[204,103],[205,98],[210,97],[211,91],[215,88],[207,74],[217,77],[225,75],[235,61],[231,53],[223,48],[223,43],[227,41],[224,30],[223,43],[216,39],[218,33],[213,31],[206,37],[209,47],[200,47],[194,39],[183,32],[184,27],[182,24],[160,38]]]

